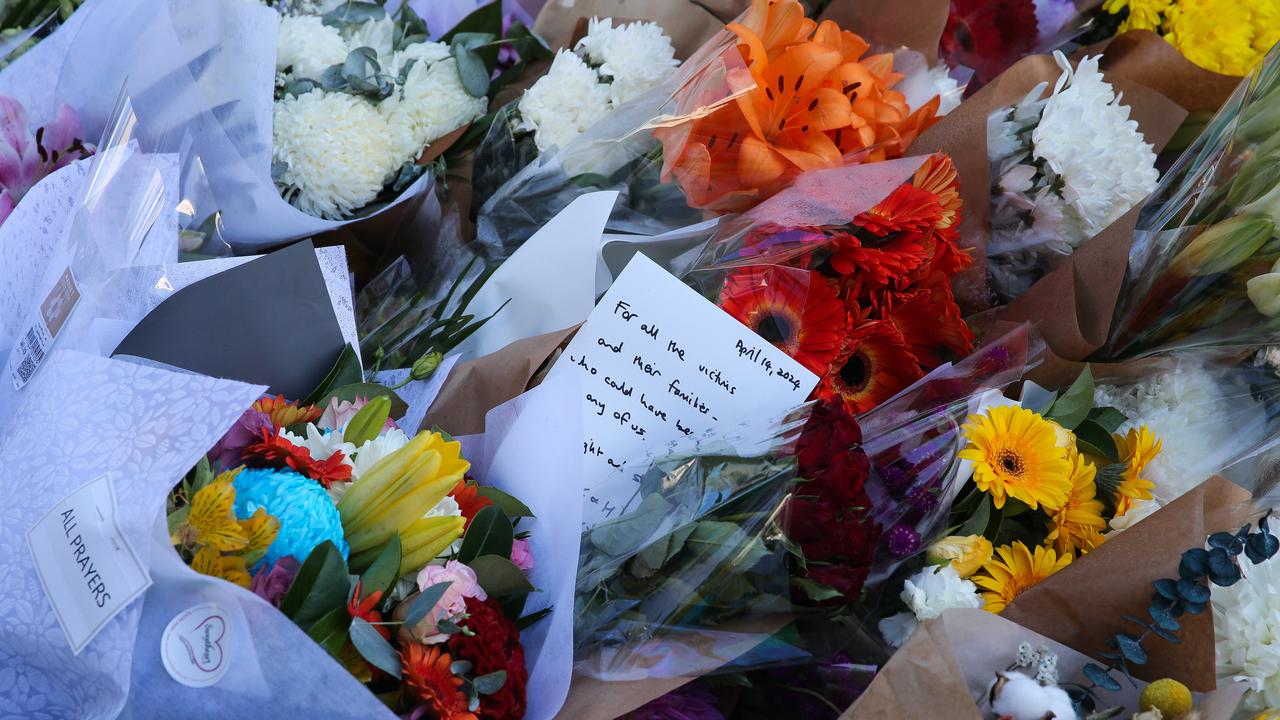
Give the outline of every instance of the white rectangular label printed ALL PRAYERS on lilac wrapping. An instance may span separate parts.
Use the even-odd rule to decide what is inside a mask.
[[[76,655],[151,585],[151,577],[115,521],[110,474],[55,505],[27,533],[27,544]]]

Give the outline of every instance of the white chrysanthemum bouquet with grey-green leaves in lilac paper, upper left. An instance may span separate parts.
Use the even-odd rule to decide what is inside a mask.
[[[424,150],[484,115],[488,83],[465,85],[456,47],[428,41],[412,10],[314,5],[333,8],[280,18],[271,177],[296,208],[337,220],[417,179]]]

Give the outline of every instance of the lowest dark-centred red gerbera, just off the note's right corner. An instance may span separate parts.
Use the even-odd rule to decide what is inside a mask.
[[[844,400],[850,413],[859,414],[922,377],[919,361],[893,323],[870,320],[849,334],[814,395],[823,400]]]

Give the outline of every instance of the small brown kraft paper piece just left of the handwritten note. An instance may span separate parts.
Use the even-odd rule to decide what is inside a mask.
[[[518,340],[498,352],[453,368],[440,395],[422,419],[422,428],[439,427],[453,436],[484,432],[484,416],[536,384],[539,370],[577,331],[577,325]]]

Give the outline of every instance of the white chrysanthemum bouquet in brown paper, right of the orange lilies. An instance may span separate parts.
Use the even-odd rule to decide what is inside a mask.
[[[1085,240],[1156,188],[1156,154],[1102,79],[1097,58],[1037,85],[987,119],[991,161],[988,272],[1001,301],[1016,297]]]

